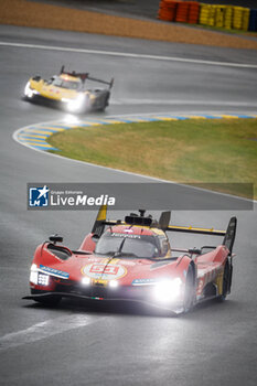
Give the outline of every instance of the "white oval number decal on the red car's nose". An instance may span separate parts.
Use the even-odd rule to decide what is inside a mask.
[[[119,265],[89,264],[82,269],[82,274],[93,279],[115,280],[127,274],[127,269]]]

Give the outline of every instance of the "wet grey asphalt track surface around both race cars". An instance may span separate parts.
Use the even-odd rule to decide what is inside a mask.
[[[188,61],[256,65],[256,52],[146,41],[142,44],[136,40],[10,26],[0,26],[0,42],[186,60],[0,46],[0,384],[256,385],[256,212],[173,213],[178,225],[216,228],[223,228],[231,215],[237,215],[233,292],[224,303],[206,303],[181,318],[132,305],[109,308],[68,300],[57,309],[44,308],[21,300],[29,292],[29,267],[35,246],[58,232],[66,245],[78,247],[90,230],[95,213],[28,212],[26,183],[147,180],[50,157],[12,139],[21,127],[64,117],[62,111],[20,98],[31,75],[50,76],[62,64],[95,76],[115,75],[113,103],[106,116],[154,111],[256,114],[256,68]],[[207,193],[189,189],[186,200],[201,194],[208,200]],[[172,243],[197,247],[206,240],[201,236],[184,240],[180,236]]]

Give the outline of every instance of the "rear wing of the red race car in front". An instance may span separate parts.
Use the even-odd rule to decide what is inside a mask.
[[[237,218],[232,217],[229,219],[228,226],[226,230],[218,230],[214,228],[197,228],[193,226],[176,226],[169,225],[171,212],[162,212],[159,218],[159,222],[152,219],[151,216],[146,217],[146,211],[139,211],[140,216],[131,213],[129,216],[125,217],[125,222],[121,219],[118,221],[107,221],[107,205],[103,205],[99,208],[98,215],[96,217],[95,224],[93,226],[92,233],[100,237],[105,230],[105,226],[115,226],[119,224],[129,224],[129,225],[141,225],[149,227],[158,227],[163,232],[183,232],[190,234],[199,234],[199,235],[211,235],[211,236],[224,236],[223,245],[227,247],[227,249],[232,253],[233,245],[236,237],[236,227],[237,227]]]

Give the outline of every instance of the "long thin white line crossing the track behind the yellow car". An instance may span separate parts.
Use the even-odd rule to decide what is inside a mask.
[[[85,50],[85,49],[61,47],[61,46],[55,46],[55,45],[26,44],[26,43],[12,43],[12,42],[0,42],[0,45],[1,46],[22,47],[22,49],[34,49],[34,50],[77,52],[77,53],[83,53],[83,54],[95,54],[95,55],[121,56],[121,57],[133,57],[133,58],[136,57],[136,58],[153,60],[153,61],[194,63],[194,64],[204,64],[204,65],[214,65],[214,66],[257,68],[257,64],[203,61],[203,60],[194,60],[194,58],[176,57],[176,56],[159,56],[159,55],[127,53],[127,52]]]

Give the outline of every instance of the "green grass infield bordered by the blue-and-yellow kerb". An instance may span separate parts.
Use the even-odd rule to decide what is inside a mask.
[[[216,189],[257,183],[256,139],[257,119],[188,119],[77,128],[49,143],[76,160]],[[242,184],[218,190],[249,196]]]

